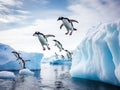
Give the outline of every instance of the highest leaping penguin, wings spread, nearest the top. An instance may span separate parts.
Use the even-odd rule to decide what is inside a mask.
[[[61,26],[60,26],[60,29],[61,29],[63,26],[66,27],[66,29],[67,29],[67,33],[65,33],[66,35],[69,34],[70,31],[71,31],[71,32],[70,32],[69,35],[72,35],[73,31],[76,31],[76,30],[77,30],[76,28],[74,28],[73,22],[79,23],[78,21],[73,20],[73,19],[69,19],[69,18],[65,18],[65,17],[59,17],[58,20],[62,20],[62,22],[63,22],[63,23],[61,24]],[[57,21],[58,21],[58,20],[57,20]]]

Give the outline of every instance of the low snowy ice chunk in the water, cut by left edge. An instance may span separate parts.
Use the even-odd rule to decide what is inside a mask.
[[[0,71],[0,78],[15,79],[15,74],[10,71]]]

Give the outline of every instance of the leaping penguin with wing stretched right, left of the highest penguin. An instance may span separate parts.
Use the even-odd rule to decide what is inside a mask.
[[[38,37],[38,39],[39,39],[39,41],[40,41],[40,43],[41,43],[41,45],[43,47],[43,50],[45,50],[45,47],[44,47],[45,45],[47,46],[48,50],[50,50],[47,38],[48,37],[55,37],[55,35],[50,35],[50,34],[49,35],[44,35],[41,32],[35,32],[33,34],[33,36],[37,36]]]

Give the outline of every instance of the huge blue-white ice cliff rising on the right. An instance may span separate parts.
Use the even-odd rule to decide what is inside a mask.
[[[120,20],[86,34],[74,50],[70,73],[120,86]]]

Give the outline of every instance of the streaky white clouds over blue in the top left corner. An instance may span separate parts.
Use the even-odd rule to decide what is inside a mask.
[[[21,23],[28,18],[29,12],[22,10],[22,5],[21,0],[0,0],[0,24]]]

